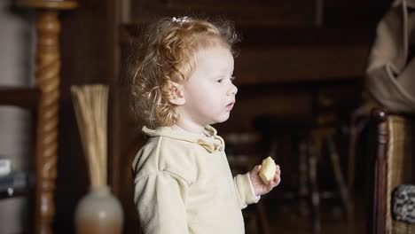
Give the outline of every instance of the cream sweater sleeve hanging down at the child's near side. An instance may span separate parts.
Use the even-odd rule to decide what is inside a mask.
[[[136,177],[134,202],[145,234],[188,233],[187,188],[184,179],[165,171]]]

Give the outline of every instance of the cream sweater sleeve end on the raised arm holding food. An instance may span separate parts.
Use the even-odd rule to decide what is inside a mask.
[[[235,190],[237,192],[237,197],[239,199],[240,208],[243,209],[249,204],[258,202],[260,199],[259,196],[255,196],[251,180],[249,178],[249,173],[243,175],[236,175],[233,178],[233,183],[235,184]]]

